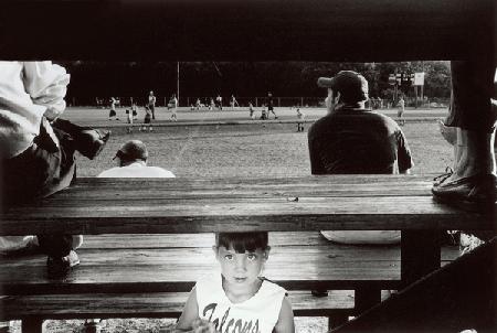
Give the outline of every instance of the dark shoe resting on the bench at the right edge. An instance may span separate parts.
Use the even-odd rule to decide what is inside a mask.
[[[496,176],[494,174],[476,174],[468,178],[446,182],[448,176],[432,187],[436,202],[448,204],[470,212],[488,212],[495,210]]]

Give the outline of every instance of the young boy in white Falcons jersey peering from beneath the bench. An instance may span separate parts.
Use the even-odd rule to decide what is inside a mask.
[[[212,248],[221,271],[197,281],[176,332],[295,332],[285,289],[261,277],[267,233],[220,233]]]

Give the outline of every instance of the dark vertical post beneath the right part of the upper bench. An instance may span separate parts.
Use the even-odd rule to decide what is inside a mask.
[[[440,268],[438,230],[402,230],[401,280],[406,287]]]

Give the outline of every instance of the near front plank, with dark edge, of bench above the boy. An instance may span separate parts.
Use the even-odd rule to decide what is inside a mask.
[[[0,235],[163,234],[248,230],[495,229],[495,217],[461,212],[431,197],[170,201],[150,206],[13,208]],[[146,225],[147,227],[144,227]]]

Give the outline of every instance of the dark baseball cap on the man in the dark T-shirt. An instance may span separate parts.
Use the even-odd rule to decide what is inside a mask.
[[[319,77],[317,85],[340,92],[345,101],[361,101],[368,99],[368,82],[353,71],[340,71],[334,77]]]

